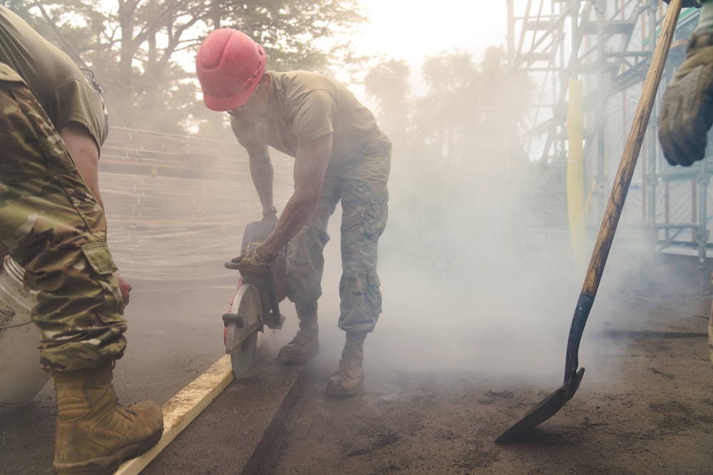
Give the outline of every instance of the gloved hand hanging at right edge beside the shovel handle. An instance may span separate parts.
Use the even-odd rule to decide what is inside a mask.
[[[686,60],[664,93],[659,140],[667,162],[703,160],[713,124],[713,33],[692,34]]]

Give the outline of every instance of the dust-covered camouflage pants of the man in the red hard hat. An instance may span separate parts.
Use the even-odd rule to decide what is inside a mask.
[[[386,227],[391,167],[391,142],[380,134],[348,163],[327,167],[322,196],[307,224],[287,246],[284,286],[294,303],[316,302],[322,296],[327,222],[342,202],[342,279],[339,328],[374,330],[381,313],[376,247]]]

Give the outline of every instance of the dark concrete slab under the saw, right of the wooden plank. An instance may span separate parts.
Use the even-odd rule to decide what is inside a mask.
[[[231,474],[254,473],[297,397],[305,366],[259,355],[141,473],[225,473],[225,461]]]

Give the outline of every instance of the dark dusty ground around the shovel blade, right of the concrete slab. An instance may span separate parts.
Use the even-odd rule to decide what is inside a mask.
[[[713,473],[713,375],[699,316],[709,299],[683,311],[638,298],[608,303],[640,324],[611,322],[602,338],[631,344],[602,351],[596,365],[584,360],[574,399],[520,442],[493,443],[561,380],[381,371],[371,360],[364,393],[340,401],[324,395],[332,368],[314,365],[260,473]],[[521,370],[530,364],[523,357]]]

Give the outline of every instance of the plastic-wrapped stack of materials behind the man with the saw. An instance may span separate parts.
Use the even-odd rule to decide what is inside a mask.
[[[235,274],[245,224],[262,219],[245,150],[232,142],[113,128],[100,188],[108,243],[125,278],[197,281]],[[270,150],[278,211],[292,194],[292,158]]]

